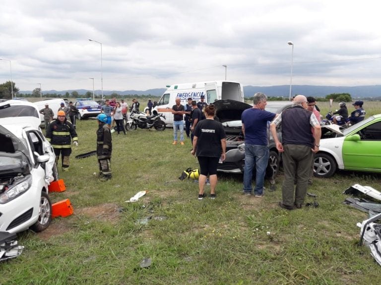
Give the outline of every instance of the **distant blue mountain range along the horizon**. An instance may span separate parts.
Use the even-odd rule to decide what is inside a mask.
[[[165,88],[148,89],[146,91],[138,90],[126,90],[126,91],[103,91],[103,95],[111,95],[117,93],[119,95],[151,95],[151,96],[161,96],[165,92]],[[86,92],[91,92],[92,90],[44,90],[44,94],[66,94],[66,92],[71,93],[73,91],[78,92],[80,95],[86,94]],[[277,85],[277,86],[244,86],[245,97],[252,97],[256,92],[263,92],[267,96],[278,97],[283,96],[288,98],[290,94],[289,85]],[[19,91],[20,94],[31,94],[32,91]],[[291,95],[306,95],[314,97],[325,97],[326,95],[333,93],[349,93],[352,98],[364,98],[364,97],[381,97],[381,85],[368,85],[368,86],[313,86],[313,85],[293,85]],[[100,90],[95,91],[96,95],[101,94]]]

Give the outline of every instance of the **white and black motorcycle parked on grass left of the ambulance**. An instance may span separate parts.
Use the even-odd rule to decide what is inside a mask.
[[[126,131],[134,131],[137,127],[140,129],[151,129],[155,128],[156,131],[164,131],[166,124],[160,118],[165,116],[161,113],[158,113],[156,110],[152,112],[151,116],[147,116],[143,112],[131,113],[129,115],[129,120],[127,121],[125,128]]]

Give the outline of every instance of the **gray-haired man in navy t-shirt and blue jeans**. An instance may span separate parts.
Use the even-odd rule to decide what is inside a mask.
[[[242,132],[245,136],[245,170],[244,189],[245,195],[252,194],[253,168],[255,166],[255,197],[263,196],[263,183],[269,157],[267,128],[268,121],[272,121],[277,114],[264,110],[267,96],[255,93],[253,108],[243,111]]]

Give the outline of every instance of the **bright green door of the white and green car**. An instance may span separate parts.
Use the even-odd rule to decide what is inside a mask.
[[[347,136],[342,155],[346,170],[381,172],[381,118]]]

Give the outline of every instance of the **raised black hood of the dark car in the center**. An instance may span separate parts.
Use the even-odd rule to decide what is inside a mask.
[[[221,123],[241,121],[242,112],[252,107],[248,103],[236,100],[217,100],[213,102],[213,105],[216,109],[216,117]]]

